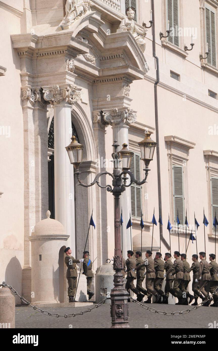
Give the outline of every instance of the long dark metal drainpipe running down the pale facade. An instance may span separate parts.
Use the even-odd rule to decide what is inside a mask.
[[[160,81],[160,74],[159,74],[159,58],[156,55],[156,44],[155,44],[155,18],[154,18],[154,0],[151,0],[151,9],[152,9],[152,48],[153,48],[153,57],[156,60],[156,74],[157,80],[154,83],[154,110],[155,110],[155,129],[156,129],[156,141],[157,141],[157,176],[158,176],[158,206],[160,208],[160,215],[162,218],[162,201],[161,201],[161,178],[160,178],[160,148],[159,148],[159,126],[158,126],[158,100],[157,100],[157,85]],[[164,245],[167,249],[170,249],[170,245],[163,237],[163,227],[160,227],[160,237],[163,241]]]

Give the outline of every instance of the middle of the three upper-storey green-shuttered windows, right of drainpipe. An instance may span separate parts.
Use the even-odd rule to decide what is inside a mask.
[[[168,37],[168,41],[173,45],[179,46],[178,27],[179,27],[179,2],[178,0],[166,0],[166,26],[168,29],[168,21],[172,32]]]

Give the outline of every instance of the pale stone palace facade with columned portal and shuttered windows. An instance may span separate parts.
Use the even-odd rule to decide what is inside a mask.
[[[126,16],[131,6],[133,19]],[[112,258],[113,197],[97,186],[77,186],[65,147],[72,133],[84,145],[80,179],[112,172],[113,140],[134,152],[131,170],[143,179],[138,142],[154,133],[157,152],[144,186],[121,196],[123,252],[151,248],[152,214],[163,219],[161,251],[185,250],[185,213],[204,250],[203,208],[209,220],[206,252],[214,249],[218,213],[218,1],[216,0],[2,0],[0,52],[0,280],[31,298],[31,244],[34,226],[51,218],[65,228],[73,256],[81,258],[93,209],[87,249],[93,271]],[[154,84],[160,80],[157,101]],[[127,29],[126,29],[127,28]],[[172,29],[168,38],[167,29]],[[193,49],[190,44],[193,40]],[[146,46],[146,47],[145,47]],[[206,54],[207,52],[207,54]],[[202,56],[199,56],[202,55]],[[207,58],[205,58],[207,56]],[[158,106],[158,119],[155,103]],[[108,179],[101,177],[101,185]],[[192,229],[193,227],[193,229]],[[60,247],[61,249],[61,247]],[[160,249],[154,228],[153,251]],[[196,253],[189,244],[188,260]],[[40,254],[40,253],[39,253]],[[56,266],[55,262],[55,266]],[[19,301],[17,301],[19,302]]]

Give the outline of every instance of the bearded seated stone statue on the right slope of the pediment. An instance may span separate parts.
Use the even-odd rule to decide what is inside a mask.
[[[133,18],[135,15],[135,11],[133,8],[130,7],[126,12],[126,14],[127,14],[127,18],[124,18],[120,22],[118,32],[130,31],[130,33],[132,33],[133,37],[136,39],[138,45],[140,46],[141,51],[144,52],[145,46],[146,46],[146,42],[144,38],[147,33],[147,29],[142,30],[137,27],[136,23],[133,21]]]

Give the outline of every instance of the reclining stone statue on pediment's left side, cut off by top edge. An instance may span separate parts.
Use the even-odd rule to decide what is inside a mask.
[[[67,0],[65,6],[66,16],[61,23],[61,28],[68,27],[87,11],[91,11],[91,6],[93,5],[93,2],[90,0]]]

